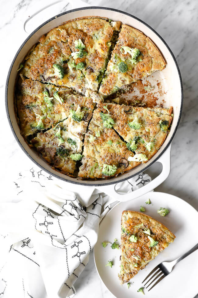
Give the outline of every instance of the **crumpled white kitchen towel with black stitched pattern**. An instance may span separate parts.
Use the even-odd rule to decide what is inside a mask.
[[[150,181],[142,173],[121,182],[119,191]],[[0,204],[0,296],[72,296],[97,241],[99,222],[115,200],[36,166],[19,173],[6,188],[7,198]]]

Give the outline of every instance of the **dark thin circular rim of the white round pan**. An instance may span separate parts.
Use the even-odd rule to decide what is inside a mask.
[[[180,70],[179,70],[179,66],[177,64],[177,61],[175,59],[175,56],[174,54],[172,53],[171,49],[169,48],[168,44],[164,41],[164,39],[152,28],[150,27],[147,23],[145,23],[144,21],[140,20],[139,18],[131,15],[130,13],[126,13],[122,10],[118,10],[118,9],[113,9],[113,8],[108,8],[108,7],[100,7],[100,6],[89,6],[89,7],[83,7],[83,8],[77,8],[77,9],[71,9],[71,10],[68,10],[66,12],[63,12],[63,13],[60,13],[58,15],[56,15],[55,17],[52,17],[51,19],[45,21],[43,24],[41,24],[39,27],[37,27],[28,37],[27,39],[23,42],[23,44],[19,47],[19,50],[17,51],[13,61],[12,61],[12,64],[10,65],[10,68],[9,68],[9,72],[8,72],[8,76],[7,76],[7,79],[6,79],[6,83],[5,83],[5,109],[6,109],[6,114],[7,114],[7,118],[8,118],[8,121],[9,121],[9,125],[10,125],[10,128],[12,130],[12,133],[17,141],[17,143],[19,144],[20,148],[23,150],[23,152],[30,158],[30,160],[32,160],[34,162],[34,164],[36,164],[39,168],[41,168],[43,171],[47,172],[48,174],[54,176],[55,178],[58,178],[58,179],[61,179],[63,181],[66,181],[66,182],[69,182],[69,183],[73,183],[73,184],[78,184],[78,185],[83,185],[83,186],[107,186],[107,185],[112,185],[112,184],[117,184],[119,182],[123,182],[123,181],[126,181],[130,178],[133,178],[134,176],[142,173],[143,171],[140,170],[138,171],[137,173],[127,177],[127,178],[123,178],[123,179],[120,179],[118,181],[114,181],[114,182],[104,182],[104,183],[94,183],[94,184],[90,184],[90,183],[83,183],[83,182],[77,182],[77,181],[70,181],[68,180],[67,178],[62,178],[54,173],[52,173],[51,171],[48,171],[46,168],[44,168],[43,166],[41,166],[36,160],[34,160],[34,158],[32,156],[30,156],[30,154],[25,150],[25,148],[23,147],[23,145],[21,144],[21,142],[19,141],[15,131],[14,131],[14,128],[12,126],[12,122],[11,122],[11,119],[10,119],[10,116],[9,116],[9,110],[8,110],[8,83],[9,83],[9,77],[10,77],[10,73],[12,71],[12,67],[13,67],[13,64],[16,60],[16,57],[18,56],[19,52],[21,51],[21,49],[23,48],[23,46],[26,44],[26,42],[30,39],[30,37],[32,35],[34,35],[35,32],[37,32],[41,27],[43,27],[44,25],[46,25],[47,23],[49,23],[50,21],[56,19],[57,17],[61,17],[62,15],[65,15],[65,14],[68,14],[68,13],[71,13],[71,12],[75,12],[75,11],[79,11],[79,10],[88,10],[88,9],[104,9],[104,10],[111,10],[111,11],[115,11],[115,12],[118,12],[118,13],[123,13],[129,17],[133,17],[134,19],[140,21],[141,23],[143,23],[145,26],[147,26],[150,30],[152,30],[160,39],[161,41],[165,44],[165,46],[168,48],[169,52],[171,53],[171,56],[175,62],[175,65],[176,65],[176,68],[177,68],[177,71],[178,71],[178,75],[179,75],[179,80],[180,80],[180,86],[181,86],[181,106],[180,106],[180,112],[179,112],[179,118],[178,118],[178,121],[177,121],[177,124],[176,124],[176,127],[175,127],[175,130],[173,131],[173,134],[171,136],[171,139],[169,140],[168,144],[166,145],[166,147],[162,150],[162,152],[159,154],[159,156],[157,156],[149,165],[147,165],[143,171],[147,170],[152,164],[154,164],[161,156],[162,154],[166,151],[166,149],[169,147],[169,145],[171,144],[174,136],[175,136],[175,133],[178,129],[178,126],[179,126],[179,122],[181,120],[181,116],[182,116],[182,108],[183,108],[183,86],[182,86],[182,77],[181,77],[181,73],[180,73]]]

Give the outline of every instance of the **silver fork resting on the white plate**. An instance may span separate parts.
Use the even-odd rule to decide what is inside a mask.
[[[150,291],[155,285],[158,284],[158,282],[160,282],[164,277],[166,277],[169,273],[171,273],[173,267],[179,262],[181,261],[182,259],[186,258],[187,256],[189,256],[192,252],[194,252],[196,249],[198,249],[198,243],[193,247],[191,248],[188,252],[186,252],[183,256],[175,259],[174,261],[172,262],[162,262],[160,263],[159,265],[157,265],[148,275],[147,277],[143,280],[146,281],[151,274],[153,274],[149,280],[147,280],[147,282],[145,283],[145,285],[152,279],[154,278],[149,285],[147,285],[146,289],[157,279],[159,278],[155,283],[154,285],[152,285],[152,287],[148,290]],[[142,283],[143,283],[142,282]],[[145,286],[144,285],[144,286]]]

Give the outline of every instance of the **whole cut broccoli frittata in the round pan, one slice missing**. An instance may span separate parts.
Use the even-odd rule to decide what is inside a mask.
[[[147,162],[171,123],[171,107],[140,107],[145,94],[140,106],[107,97],[165,67],[148,37],[127,25],[119,33],[120,25],[70,20],[41,36],[19,67],[21,134],[52,167],[79,179],[113,177]]]

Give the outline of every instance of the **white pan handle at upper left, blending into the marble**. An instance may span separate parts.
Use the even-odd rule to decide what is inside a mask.
[[[54,6],[54,5],[58,4],[58,3],[61,3],[61,2],[66,2],[67,5],[70,4],[70,5],[72,6],[72,9],[74,9],[74,8],[80,8],[80,7],[84,7],[84,6],[90,6],[89,4],[87,4],[87,3],[85,3],[85,2],[83,2],[83,1],[81,1],[81,0],[75,0],[75,1],[72,1],[72,0],[58,0],[58,1],[55,1],[55,2],[53,2],[53,3],[51,3],[51,4],[48,4],[48,5],[44,6],[43,8],[39,9],[37,12],[33,13],[30,17],[28,17],[28,19],[26,19],[26,20],[24,21],[24,24],[23,24],[23,29],[24,29],[24,31],[25,31],[27,34],[30,34],[30,32],[27,31],[27,28],[26,28],[27,23],[28,23],[31,19],[33,19],[37,14],[41,13],[41,12],[44,11],[45,9],[47,9],[47,8],[49,8],[49,7],[51,7],[51,6]],[[66,5],[66,6],[67,6],[67,5]],[[65,6],[65,8],[66,8],[66,6]],[[67,10],[67,9],[64,9],[64,11],[66,11],[66,10]],[[37,27],[37,25],[35,26],[35,24],[34,24],[34,28],[36,28],[36,27]]]

